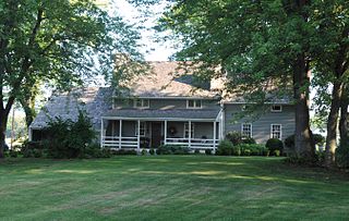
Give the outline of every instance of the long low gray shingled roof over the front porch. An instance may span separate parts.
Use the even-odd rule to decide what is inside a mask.
[[[219,114],[219,109],[193,110],[193,109],[119,109],[110,110],[103,118],[115,119],[153,119],[153,120],[208,120],[214,121]]]

